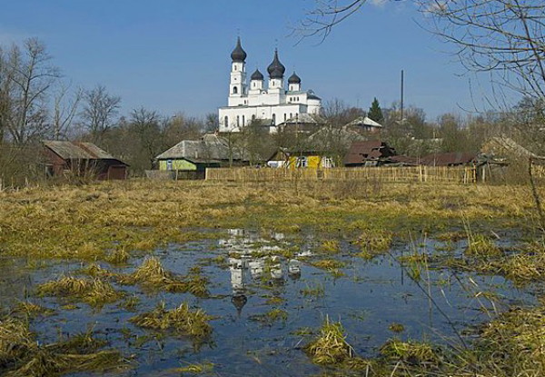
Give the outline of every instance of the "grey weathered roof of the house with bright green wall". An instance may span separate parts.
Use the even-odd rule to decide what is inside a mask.
[[[249,154],[241,148],[231,148],[233,160],[248,160]],[[172,160],[185,158],[190,161],[229,160],[230,148],[228,141],[216,134],[206,134],[201,140],[182,140],[172,148],[155,157],[157,160]]]

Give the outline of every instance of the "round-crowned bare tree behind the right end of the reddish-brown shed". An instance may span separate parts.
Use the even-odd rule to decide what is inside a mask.
[[[108,94],[104,85],[84,92],[84,109],[80,117],[94,143],[100,142],[114,126],[120,104],[121,97]]]

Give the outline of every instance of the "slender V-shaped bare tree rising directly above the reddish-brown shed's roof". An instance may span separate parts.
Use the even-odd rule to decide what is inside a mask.
[[[54,94],[53,108],[53,138],[54,140],[66,139],[69,129],[77,114],[79,104],[84,95],[81,88],[76,88],[70,94],[70,84],[61,83]]]

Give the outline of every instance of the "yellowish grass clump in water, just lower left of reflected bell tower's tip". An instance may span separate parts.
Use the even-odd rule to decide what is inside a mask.
[[[182,335],[203,339],[212,333],[212,326],[208,323],[211,319],[202,309],[191,310],[188,303],[182,303],[169,311],[162,302],[154,311],[136,315],[129,321],[146,329],[173,330]]]

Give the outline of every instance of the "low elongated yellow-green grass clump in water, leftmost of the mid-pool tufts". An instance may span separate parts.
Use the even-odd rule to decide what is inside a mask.
[[[40,284],[37,287],[37,294],[83,301],[96,308],[100,308],[106,303],[114,303],[124,295],[124,293],[115,291],[110,283],[100,279],[90,280],[73,276],[64,276],[59,280]]]

